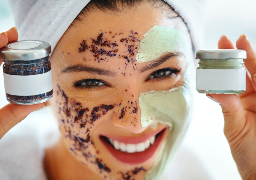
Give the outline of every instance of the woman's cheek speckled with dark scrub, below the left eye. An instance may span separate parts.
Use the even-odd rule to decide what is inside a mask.
[[[75,149],[86,149],[84,143],[91,143],[90,132],[94,123],[104,116],[108,111],[114,108],[114,105],[101,104],[95,107],[85,107],[84,104],[69,98],[65,92],[58,86],[57,107],[59,115],[59,125],[65,138],[74,141]]]

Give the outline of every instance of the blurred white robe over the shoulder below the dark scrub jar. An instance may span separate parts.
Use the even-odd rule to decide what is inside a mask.
[[[44,150],[33,132],[6,134],[0,140],[0,177],[12,180],[46,180]]]

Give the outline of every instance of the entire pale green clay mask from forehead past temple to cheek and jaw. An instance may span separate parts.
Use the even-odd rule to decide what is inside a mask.
[[[157,123],[169,126],[168,138],[160,148],[156,162],[146,174],[146,180],[155,180],[169,163],[173,151],[185,133],[191,112],[191,79],[193,80],[193,52],[190,37],[183,31],[164,26],[154,26],[144,35],[136,60],[140,63],[158,59],[163,53],[180,53],[186,58],[184,85],[168,91],[149,91],[140,93],[141,125]],[[190,76],[187,76],[187,75]]]

